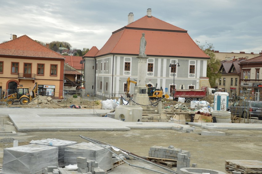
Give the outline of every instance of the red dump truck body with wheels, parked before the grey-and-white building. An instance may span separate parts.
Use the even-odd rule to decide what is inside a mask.
[[[173,100],[178,101],[178,97],[185,98],[186,103],[190,103],[192,100],[200,100],[207,94],[207,87],[201,87],[201,89],[176,89]]]

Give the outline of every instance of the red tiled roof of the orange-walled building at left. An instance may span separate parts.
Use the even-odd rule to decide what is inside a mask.
[[[62,55],[46,48],[26,35],[0,44],[0,55],[64,58]]]

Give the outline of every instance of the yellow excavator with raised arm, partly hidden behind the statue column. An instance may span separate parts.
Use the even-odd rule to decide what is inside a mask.
[[[130,83],[134,83],[135,85],[137,85],[137,80],[132,79],[132,78],[127,78],[126,80],[126,92],[125,95],[130,98],[130,94],[129,94],[129,90],[130,90]],[[146,87],[147,84],[145,84]],[[156,89],[156,87],[148,87],[147,88],[147,94],[149,96],[150,99],[161,99],[164,98],[165,95],[163,95],[163,91],[160,89]]]

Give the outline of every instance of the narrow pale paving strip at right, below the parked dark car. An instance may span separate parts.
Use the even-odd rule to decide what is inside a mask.
[[[247,124],[247,123],[194,123],[189,122],[189,125],[201,127],[204,129],[229,129],[229,130],[262,130],[262,124]]]

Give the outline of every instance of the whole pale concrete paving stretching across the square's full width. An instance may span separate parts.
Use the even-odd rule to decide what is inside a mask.
[[[179,125],[171,122],[122,122],[100,117],[100,114],[109,112],[101,109],[0,108],[0,116],[9,115],[18,131],[174,129],[180,126],[189,128],[190,125],[204,129],[262,130],[262,124],[189,122],[189,125]]]

